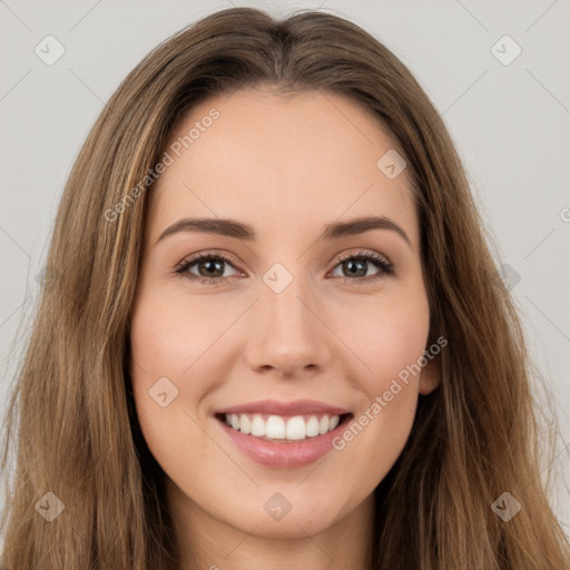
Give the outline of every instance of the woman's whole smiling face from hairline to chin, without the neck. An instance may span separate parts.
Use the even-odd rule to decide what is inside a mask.
[[[417,372],[430,313],[393,149],[318,91],[238,91],[177,126],[130,341],[140,426],[187,520],[313,534],[370,505],[400,455],[439,375]]]

